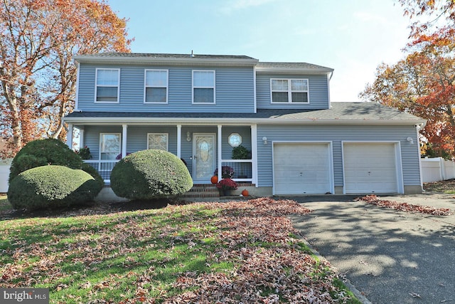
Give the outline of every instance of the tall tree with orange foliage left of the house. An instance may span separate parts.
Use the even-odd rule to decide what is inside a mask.
[[[65,136],[73,56],[129,51],[126,25],[105,1],[0,0],[0,132],[15,152],[36,138]]]

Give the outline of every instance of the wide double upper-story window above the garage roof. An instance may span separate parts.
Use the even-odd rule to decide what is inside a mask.
[[[309,103],[308,79],[271,79],[272,103]]]

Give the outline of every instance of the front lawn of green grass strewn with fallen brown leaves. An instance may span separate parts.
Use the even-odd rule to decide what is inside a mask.
[[[49,288],[50,303],[360,303],[286,216],[308,212],[255,199],[4,219],[0,287]]]

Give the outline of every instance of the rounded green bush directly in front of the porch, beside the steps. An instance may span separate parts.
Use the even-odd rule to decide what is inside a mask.
[[[128,199],[159,199],[181,195],[193,187],[193,179],[176,155],[162,150],[132,153],[115,164],[111,188]]]

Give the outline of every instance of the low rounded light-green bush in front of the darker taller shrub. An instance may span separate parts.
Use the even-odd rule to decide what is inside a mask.
[[[15,209],[40,209],[85,204],[100,192],[100,184],[81,169],[42,166],[18,174],[8,189]]]

